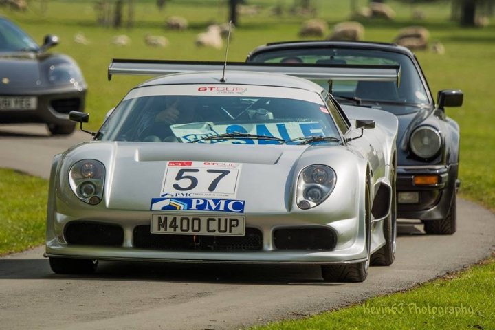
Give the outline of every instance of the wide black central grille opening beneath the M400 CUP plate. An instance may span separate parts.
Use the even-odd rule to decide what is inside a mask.
[[[246,228],[245,236],[151,234],[149,225],[138,225],[133,231],[133,245],[170,251],[256,251],[263,248],[263,235],[256,228]]]

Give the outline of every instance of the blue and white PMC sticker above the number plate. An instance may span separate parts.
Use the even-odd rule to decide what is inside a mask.
[[[245,201],[205,198],[152,198],[150,210],[191,210],[244,213]]]

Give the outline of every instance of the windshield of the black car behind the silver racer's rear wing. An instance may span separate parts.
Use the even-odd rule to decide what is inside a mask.
[[[430,104],[428,91],[411,58],[398,52],[386,52],[369,49],[316,49],[294,48],[254,54],[250,62],[266,63],[320,63],[336,65],[400,65],[400,85],[393,82],[375,82],[363,80],[333,80],[332,94],[339,102],[347,104]],[[326,89],[329,84],[318,80]],[[397,109],[396,107],[389,107]],[[394,111],[392,111],[394,112]]]

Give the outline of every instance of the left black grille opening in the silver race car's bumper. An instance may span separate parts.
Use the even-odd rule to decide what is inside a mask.
[[[78,245],[121,246],[124,230],[118,225],[75,221],[65,226],[65,241]]]

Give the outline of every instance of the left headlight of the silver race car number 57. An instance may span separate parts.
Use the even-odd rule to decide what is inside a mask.
[[[76,196],[96,205],[103,197],[104,166],[95,159],[80,160],[69,170],[69,183]]]

